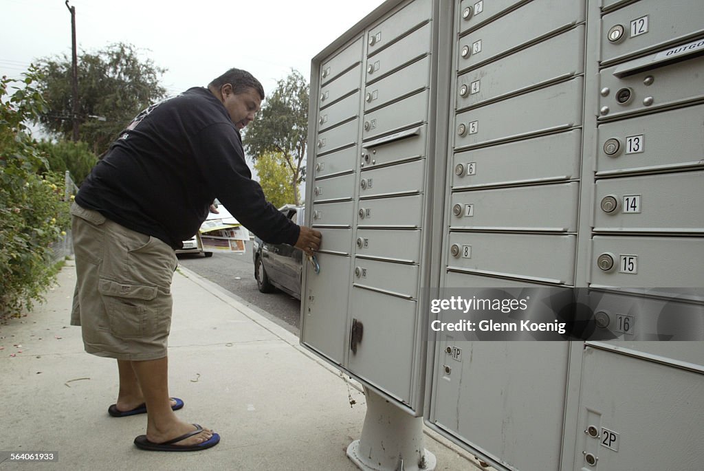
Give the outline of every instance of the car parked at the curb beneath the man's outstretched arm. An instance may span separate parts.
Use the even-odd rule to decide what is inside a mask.
[[[297,225],[303,225],[303,206],[287,204],[279,208]],[[268,244],[259,237],[252,242],[254,277],[263,293],[280,289],[301,299],[301,269],[303,251],[289,244]]]

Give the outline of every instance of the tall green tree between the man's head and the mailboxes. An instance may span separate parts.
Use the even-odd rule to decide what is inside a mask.
[[[300,204],[298,184],[305,180],[310,85],[297,70],[277,87],[263,104],[260,116],[246,127],[244,147],[254,161],[265,153],[280,153],[291,170],[293,201]]]

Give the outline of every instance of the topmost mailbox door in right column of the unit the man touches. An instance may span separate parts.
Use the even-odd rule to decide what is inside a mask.
[[[392,44],[396,38],[432,17],[432,1],[413,0],[367,33],[367,56]]]

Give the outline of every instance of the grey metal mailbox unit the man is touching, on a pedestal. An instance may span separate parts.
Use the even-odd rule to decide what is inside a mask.
[[[393,8],[322,59],[317,87],[311,81],[319,102],[308,201],[323,241],[301,336],[411,409],[425,354],[418,300],[434,127],[432,6]]]

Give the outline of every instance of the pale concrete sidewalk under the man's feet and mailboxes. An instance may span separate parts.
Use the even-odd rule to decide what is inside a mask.
[[[75,267],[69,260],[46,303],[0,325],[0,460],[54,452],[56,463],[1,470],[357,470],[346,448],[362,432],[358,384],[310,355],[298,338],[196,273],[174,275],[170,391],[182,420],[211,427],[220,444],[194,453],[148,452],[132,440],[146,415],[111,417],[115,361],[84,353],[69,326]],[[351,405],[351,402],[355,403]],[[467,453],[427,431],[437,470],[476,470]]]

